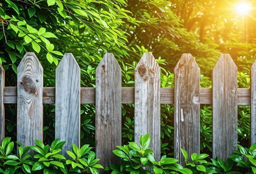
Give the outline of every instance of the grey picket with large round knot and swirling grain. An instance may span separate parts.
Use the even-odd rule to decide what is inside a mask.
[[[43,140],[43,68],[26,53],[17,70],[17,141],[24,146]]]

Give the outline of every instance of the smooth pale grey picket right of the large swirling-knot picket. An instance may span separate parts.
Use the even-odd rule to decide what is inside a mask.
[[[80,68],[71,53],[56,68],[55,90],[55,139],[66,141],[61,154],[70,158],[73,143],[80,147]]]

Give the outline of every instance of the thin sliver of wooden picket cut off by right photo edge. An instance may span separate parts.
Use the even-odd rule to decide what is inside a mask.
[[[252,64],[251,67],[251,145],[256,143],[256,61]]]

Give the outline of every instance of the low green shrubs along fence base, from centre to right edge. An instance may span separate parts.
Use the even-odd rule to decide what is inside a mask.
[[[135,142],[129,142],[129,145],[117,146],[113,153],[121,158],[121,164],[110,164],[105,170],[112,174],[117,173],[154,173],[154,174],[256,174],[256,143],[249,149],[238,145],[238,150],[234,151],[226,161],[216,157],[209,158],[208,154],[188,154],[184,149],[180,149],[186,167],[177,164],[175,158],[162,156],[161,160],[156,162],[150,146],[150,135],[140,136],[140,145]]]

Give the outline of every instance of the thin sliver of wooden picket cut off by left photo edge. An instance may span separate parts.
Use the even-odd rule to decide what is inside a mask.
[[[4,68],[0,64],[0,143],[4,139]]]

